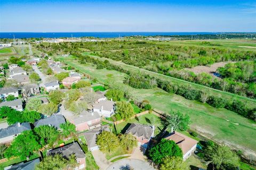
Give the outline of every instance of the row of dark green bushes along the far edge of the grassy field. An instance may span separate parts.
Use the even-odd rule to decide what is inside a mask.
[[[234,111],[239,115],[250,118],[256,121],[256,108],[248,108],[246,103],[239,100],[226,100],[219,98],[214,95],[210,95],[207,91],[194,90],[190,86],[180,85],[180,84],[171,84],[169,81],[162,79],[151,78],[149,75],[141,74],[130,74],[124,80],[124,83],[129,84],[134,88],[154,88],[155,86],[148,86],[152,81],[156,81],[157,87],[168,93],[175,93],[183,96],[188,100],[197,100],[203,103],[208,103],[210,106],[215,108],[226,108],[230,111]],[[138,84],[138,82],[140,82]]]

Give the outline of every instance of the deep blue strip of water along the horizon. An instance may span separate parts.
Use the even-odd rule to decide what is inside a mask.
[[[168,36],[168,35],[198,35],[198,34],[219,34],[209,32],[77,32],[77,33],[0,33],[0,38],[60,38],[60,37],[99,37],[115,38],[123,36]]]

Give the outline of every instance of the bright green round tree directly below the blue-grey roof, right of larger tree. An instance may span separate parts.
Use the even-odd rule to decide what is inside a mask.
[[[53,144],[59,135],[57,129],[48,125],[36,127],[34,131],[39,136],[42,145]]]

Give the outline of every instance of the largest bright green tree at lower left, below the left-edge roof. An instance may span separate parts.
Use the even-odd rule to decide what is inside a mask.
[[[38,138],[33,131],[24,131],[14,138],[4,155],[7,158],[11,158],[12,156],[21,157],[21,159],[29,158],[33,155],[34,151],[37,151],[41,147],[37,141]]]

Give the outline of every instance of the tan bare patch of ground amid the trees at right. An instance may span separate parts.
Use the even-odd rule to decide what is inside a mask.
[[[213,72],[216,72],[216,70],[219,67],[224,67],[227,63],[230,62],[217,62],[217,63],[213,63],[211,66],[196,66],[194,68],[186,68],[186,70],[188,71],[192,71],[195,74],[200,74],[201,72],[206,72],[209,74],[212,74]]]

